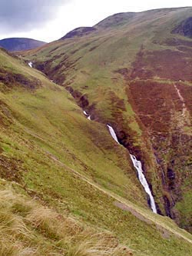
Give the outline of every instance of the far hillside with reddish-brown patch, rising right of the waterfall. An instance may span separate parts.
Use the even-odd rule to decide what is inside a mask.
[[[141,159],[159,212],[191,231],[192,8],[124,13],[25,52]],[[187,20],[187,23],[184,22]],[[186,206],[187,205],[187,206]]]

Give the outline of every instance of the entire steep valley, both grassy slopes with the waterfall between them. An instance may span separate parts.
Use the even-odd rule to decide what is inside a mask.
[[[22,204],[5,211],[33,234],[15,237],[31,255],[78,255],[81,232],[105,248],[86,256],[191,255],[191,13],[120,13],[0,48],[0,187]],[[51,216],[71,220],[68,239]]]

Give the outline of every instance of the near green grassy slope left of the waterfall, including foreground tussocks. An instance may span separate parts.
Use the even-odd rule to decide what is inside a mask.
[[[0,59],[2,255],[190,255],[191,235],[151,212],[106,125],[39,71]]]

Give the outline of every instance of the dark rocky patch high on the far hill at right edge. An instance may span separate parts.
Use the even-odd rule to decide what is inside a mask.
[[[181,22],[172,32],[174,34],[184,35],[187,38],[192,38],[192,17]]]

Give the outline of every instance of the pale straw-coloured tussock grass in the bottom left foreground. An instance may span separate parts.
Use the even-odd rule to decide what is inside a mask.
[[[86,228],[12,190],[0,191],[0,256],[131,255],[108,232]]]

